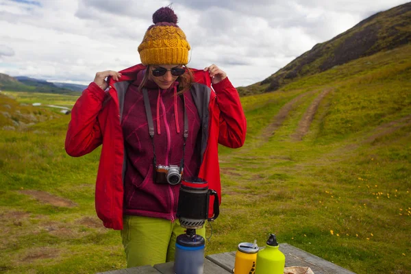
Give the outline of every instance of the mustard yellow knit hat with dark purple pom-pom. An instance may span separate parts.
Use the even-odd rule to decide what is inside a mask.
[[[142,64],[187,64],[190,45],[174,11],[160,8],[153,14],[153,23],[138,46]]]

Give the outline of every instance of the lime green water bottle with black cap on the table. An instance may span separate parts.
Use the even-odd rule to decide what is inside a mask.
[[[270,234],[265,249],[257,253],[256,274],[283,274],[286,256],[279,251],[277,238]]]

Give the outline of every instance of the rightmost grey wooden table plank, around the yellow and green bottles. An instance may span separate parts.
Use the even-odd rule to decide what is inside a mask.
[[[280,244],[279,250],[286,256],[286,266],[308,266],[315,274],[355,274],[292,245]],[[206,258],[223,269],[232,271],[234,269],[236,251],[212,254]]]

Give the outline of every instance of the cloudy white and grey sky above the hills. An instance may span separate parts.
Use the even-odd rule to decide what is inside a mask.
[[[188,66],[216,64],[234,86],[275,73],[319,42],[401,0],[0,0],[0,73],[88,84],[140,63],[152,14],[171,5]]]

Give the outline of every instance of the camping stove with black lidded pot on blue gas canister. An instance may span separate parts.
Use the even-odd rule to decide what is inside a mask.
[[[214,196],[214,216],[208,218],[210,196]],[[186,234],[175,240],[175,274],[203,274],[205,240],[195,229],[203,227],[206,221],[219,216],[219,197],[208,188],[208,182],[201,178],[183,179],[179,190],[177,218]]]

